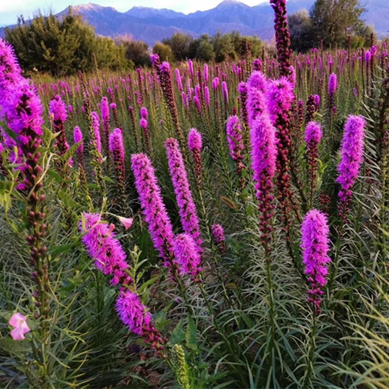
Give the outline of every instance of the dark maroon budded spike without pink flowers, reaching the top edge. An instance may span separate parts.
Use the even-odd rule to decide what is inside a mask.
[[[277,59],[282,76],[290,74],[292,50],[290,49],[290,34],[286,16],[286,0],[270,0],[274,10],[274,30],[276,35]]]

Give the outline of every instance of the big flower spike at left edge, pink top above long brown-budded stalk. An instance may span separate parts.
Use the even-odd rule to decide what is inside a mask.
[[[32,278],[36,282],[35,305],[39,308],[35,317],[47,318],[49,263],[43,242],[47,230],[44,223],[46,196],[42,193],[43,169],[39,165],[41,154],[38,150],[42,143],[43,108],[36,88],[25,79],[20,79],[18,86],[10,88],[7,93],[0,93],[0,106],[6,113],[9,129],[16,135],[22,157],[20,170],[23,182],[19,188],[26,197],[26,225],[29,231],[26,240],[30,248],[30,263],[35,269]]]

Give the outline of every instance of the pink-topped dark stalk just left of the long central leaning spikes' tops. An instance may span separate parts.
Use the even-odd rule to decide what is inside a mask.
[[[116,177],[118,180],[118,186],[120,188],[120,195],[122,201],[122,208],[126,208],[126,195],[125,195],[125,161],[124,161],[124,141],[123,133],[120,128],[115,128],[111,134],[109,134],[109,151],[112,154],[112,160],[115,168]]]

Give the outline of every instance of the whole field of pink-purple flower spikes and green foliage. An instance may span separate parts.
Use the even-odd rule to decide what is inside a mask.
[[[388,388],[389,57],[34,83],[0,40],[1,388]]]

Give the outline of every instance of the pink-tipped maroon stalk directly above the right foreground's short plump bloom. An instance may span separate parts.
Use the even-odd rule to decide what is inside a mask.
[[[313,194],[315,191],[316,174],[318,170],[318,144],[323,136],[320,124],[309,122],[305,127],[305,143],[307,145],[307,163],[308,177],[310,187],[310,207],[313,203]]]

